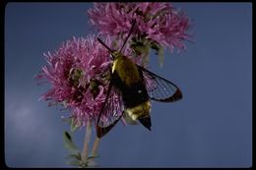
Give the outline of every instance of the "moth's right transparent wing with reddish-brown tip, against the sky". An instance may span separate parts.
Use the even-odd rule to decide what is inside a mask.
[[[138,68],[143,75],[151,99],[160,102],[173,102],[182,98],[182,93],[177,85],[172,84],[141,66],[138,66]]]

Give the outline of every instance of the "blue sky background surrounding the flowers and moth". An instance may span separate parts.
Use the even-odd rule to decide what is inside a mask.
[[[180,54],[151,56],[151,70],[183,99],[153,102],[153,131],[118,124],[99,145],[101,167],[252,165],[252,4],[173,3],[193,20],[194,42]],[[5,161],[9,167],[69,167],[56,107],[38,97],[33,76],[73,36],[86,36],[92,3],[9,3],[5,9]],[[95,133],[93,134],[95,136]],[[82,148],[84,131],[76,133]]]

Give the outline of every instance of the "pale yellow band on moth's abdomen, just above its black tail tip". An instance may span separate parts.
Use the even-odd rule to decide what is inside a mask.
[[[138,118],[150,115],[151,102],[150,100],[148,100],[138,106],[127,108],[126,111],[128,115],[132,118],[132,120],[136,121]]]

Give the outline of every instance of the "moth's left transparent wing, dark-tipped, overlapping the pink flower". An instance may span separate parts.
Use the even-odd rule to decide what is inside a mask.
[[[101,138],[107,134],[122,117],[124,110],[120,91],[110,84],[104,104],[97,119],[96,136]]]

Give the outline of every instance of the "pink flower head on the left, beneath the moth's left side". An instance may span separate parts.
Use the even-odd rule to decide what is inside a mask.
[[[105,38],[107,45],[110,42]],[[109,82],[105,74],[111,64],[109,51],[93,35],[74,37],[44,56],[48,65],[36,79],[46,80],[51,88],[41,98],[50,100],[49,104],[65,102],[77,124],[96,123]]]

